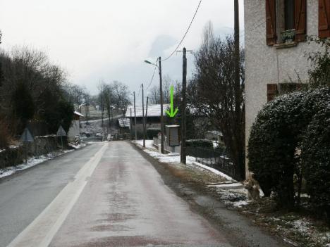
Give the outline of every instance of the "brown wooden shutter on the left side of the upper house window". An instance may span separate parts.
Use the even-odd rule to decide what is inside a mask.
[[[267,45],[276,44],[276,0],[266,0]]]

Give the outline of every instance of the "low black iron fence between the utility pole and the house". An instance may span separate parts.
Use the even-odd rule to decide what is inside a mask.
[[[240,180],[240,174],[225,151],[215,151],[209,148],[187,147],[187,155],[196,158],[196,162],[224,172],[233,179]]]

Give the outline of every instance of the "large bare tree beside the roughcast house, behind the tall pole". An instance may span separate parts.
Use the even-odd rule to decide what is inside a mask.
[[[245,177],[244,54],[240,51],[240,87],[236,85],[233,37],[212,38],[207,25],[204,41],[195,53],[196,73],[192,103],[224,135],[231,160]],[[239,96],[238,96],[239,95]]]

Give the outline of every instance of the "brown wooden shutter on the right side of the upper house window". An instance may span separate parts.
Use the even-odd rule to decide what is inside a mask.
[[[306,0],[295,0],[295,41],[306,39]]]

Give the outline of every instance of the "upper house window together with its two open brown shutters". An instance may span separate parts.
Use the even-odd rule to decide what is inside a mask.
[[[305,41],[306,0],[265,1],[267,44]]]

